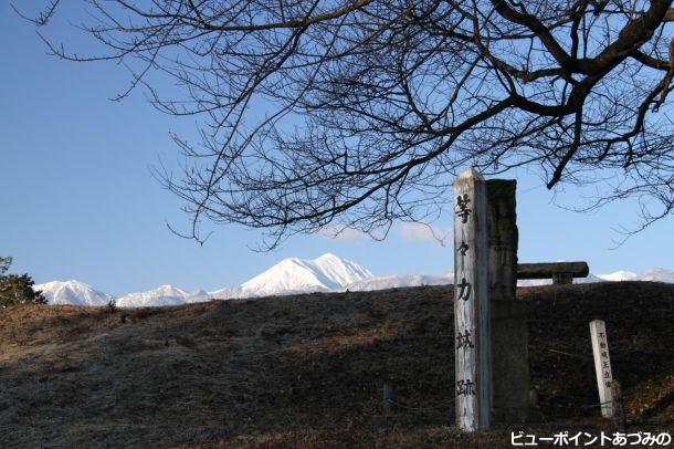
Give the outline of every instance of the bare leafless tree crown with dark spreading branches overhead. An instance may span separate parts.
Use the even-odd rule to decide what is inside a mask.
[[[451,207],[472,164],[531,166],[552,189],[674,208],[671,1],[88,0],[83,30],[159,109],[200,115],[158,173],[199,222],[266,228],[274,247],[326,226],[376,236]],[[36,20],[59,13],[52,1]],[[152,73],[178,81],[164,97]],[[124,97],[124,92],[120,97]],[[654,207],[654,208],[653,208]]]

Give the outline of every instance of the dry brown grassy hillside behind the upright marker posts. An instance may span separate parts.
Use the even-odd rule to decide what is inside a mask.
[[[674,285],[520,289],[539,435],[603,424],[607,322],[631,429],[674,427]],[[2,447],[509,447],[452,428],[451,286],[120,310],[0,310]],[[382,385],[410,408],[382,413]]]

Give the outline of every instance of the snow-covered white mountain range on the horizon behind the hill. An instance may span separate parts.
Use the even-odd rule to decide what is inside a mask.
[[[80,281],[53,281],[35,285],[50,304],[104,305],[115,300],[122,307],[176,305],[208,301],[209,299],[240,299],[312,292],[371,291],[415,285],[443,285],[453,283],[453,273],[373,275],[365,267],[335,254],[323,254],[313,260],[284,259],[274,267],[239,286],[207,292],[187,292],[172,285],[161,285],[146,292],[128,293],[114,297]],[[610,274],[590,274],[575,282],[655,281],[674,283],[674,270],[653,269],[641,274],[617,271]],[[520,280],[518,285],[544,285],[549,280]]]

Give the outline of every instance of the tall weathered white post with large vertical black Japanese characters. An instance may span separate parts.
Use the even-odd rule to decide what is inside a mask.
[[[454,348],[456,426],[489,428],[491,342],[484,178],[468,167],[454,181]]]

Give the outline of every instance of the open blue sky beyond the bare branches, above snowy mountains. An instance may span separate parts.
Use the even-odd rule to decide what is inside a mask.
[[[66,25],[51,34],[89,45]],[[189,217],[149,167],[179,161],[169,132],[192,137],[194,119],[162,115],[141,91],[109,101],[127,85],[123,67],[46,55],[34,27],[7,1],[0,2],[0,254],[14,257],[13,271],[28,271],[38,283],[77,279],[124,294],[165,283],[236,285],[283,258],[324,252],[376,274],[452,269],[451,241],[442,247],[412,224],[397,226],[385,242],[297,236],[271,253],[250,249],[260,232],[234,226],[215,228],[203,247],[173,236],[166,221],[180,228]],[[612,250],[621,238],[613,228],[636,223],[633,202],[579,215],[556,206],[536,177],[523,173],[517,180],[520,261],[586,260],[593,273],[674,268],[672,218]],[[568,188],[558,202],[573,203],[580,194]],[[449,220],[434,226],[442,232]]]

